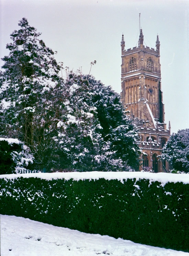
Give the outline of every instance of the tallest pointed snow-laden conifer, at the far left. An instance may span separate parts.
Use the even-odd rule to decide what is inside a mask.
[[[58,115],[60,70],[52,49],[38,39],[27,19],[11,34],[8,56],[0,76],[0,135],[18,138],[35,152],[36,161],[45,167],[54,152],[50,138]],[[59,97],[60,98],[60,97]]]

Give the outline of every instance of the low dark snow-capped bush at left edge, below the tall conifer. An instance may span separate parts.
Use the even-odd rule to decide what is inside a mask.
[[[29,147],[18,139],[0,138],[0,174],[28,172],[33,160]]]

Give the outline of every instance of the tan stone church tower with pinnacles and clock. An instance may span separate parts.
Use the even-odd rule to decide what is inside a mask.
[[[164,122],[163,92],[161,90],[160,42],[157,35],[156,50],[143,45],[142,29],[138,47],[125,50],[122,35],[121,98],[127,115],[138,126],[140,147],[143,150],[140,170],[167,172],[167,162],[157,161],[170,136]]]

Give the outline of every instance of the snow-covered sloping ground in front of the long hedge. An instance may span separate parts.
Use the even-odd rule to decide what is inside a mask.
[[[22,217],[0,215],[1,256],[189,256],[121,238],[81,233]]]

